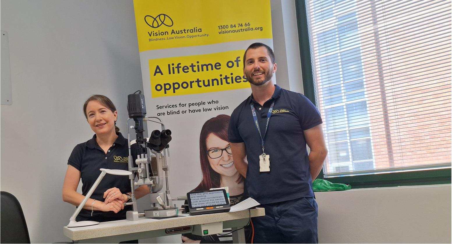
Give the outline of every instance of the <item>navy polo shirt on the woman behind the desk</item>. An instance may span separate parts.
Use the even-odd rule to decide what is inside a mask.
[[[118,138],[116,138],[113,145],[108,148],[107,154],[105,154],[104,150],[97,144],[96,135],[94,134],[93,138],[89,141],[80,143],[74,147],[67,164],[80,170],[83,184],[82,194],[86,196],[86,193],[88,193],[89,189],[91,189],[94,182],[99,177],[101,173],[100,168],[128,170],[128,156],[129,149],[127,139],[124,138],[121,133],[118,133]],[[129,177],[124,175],[106,174],[90,198],[103,202],[105,200],[104,192],[113,187],[117,187],[122,193],[130,192]],[[94,211],[93,217],[100,216],[117,218],[118,220],[125,219],[128,210],[132,210],[132,206],[126,206],[118,213],[114,213],[113,211]],[[76,217],[76,221],[89,220],[90,218],[91,210],[82,209]]]

